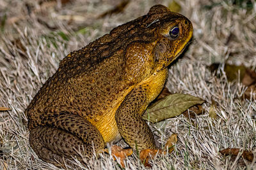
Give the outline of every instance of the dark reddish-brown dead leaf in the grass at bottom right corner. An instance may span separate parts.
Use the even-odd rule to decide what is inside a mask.
[[[227,148],[225,150],[221,150],[220,153],[222,155],[235,155],[237,156],[239,154],[239,152],[241,152],[241,148]],[[241,155],[244,159],[249,160],[250,162],[252,162],[254,155],[252,152],[250,151],[243,151],[242,155]]]

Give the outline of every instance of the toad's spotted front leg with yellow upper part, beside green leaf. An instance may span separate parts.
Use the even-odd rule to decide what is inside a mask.
[[[125,97],[116,111],[115,120],[118,131],[125,142],[138,150],[156,149],[152,131],[145,120],[141,118],[148,104],[154,100],[163,89],[167,77],[167,70],[152,74],[145,81],[138,84]]]

